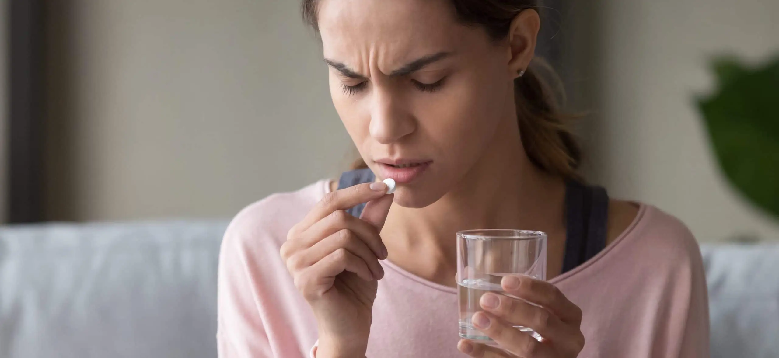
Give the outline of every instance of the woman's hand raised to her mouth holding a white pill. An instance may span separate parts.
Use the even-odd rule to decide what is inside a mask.
[[[366,183],[325,195],[281,246],[317,320],[317,356],[365,354],[376,280],[384,276],[379,259],[387,256],[379,237],[393,202],[386,191],[386,184]],[[368,204],[359,219],[344,211],[363,202]]]

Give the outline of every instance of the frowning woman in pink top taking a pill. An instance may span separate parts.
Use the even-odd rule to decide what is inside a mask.
[[[580,184],[580,153],[530,67],[535,6],[305,0],[368,169],[235,217],[221,357],[708,356],[696,241],[654,207]],[[502,281],[536,305],[481,298],[473,320],[498,346],[457,335],[455,233],[478,228],[548,233],[548,282]]]

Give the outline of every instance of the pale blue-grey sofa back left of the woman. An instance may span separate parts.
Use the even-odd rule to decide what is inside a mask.
[[[0,229],[0,356],[217,356],[226,221]]]

